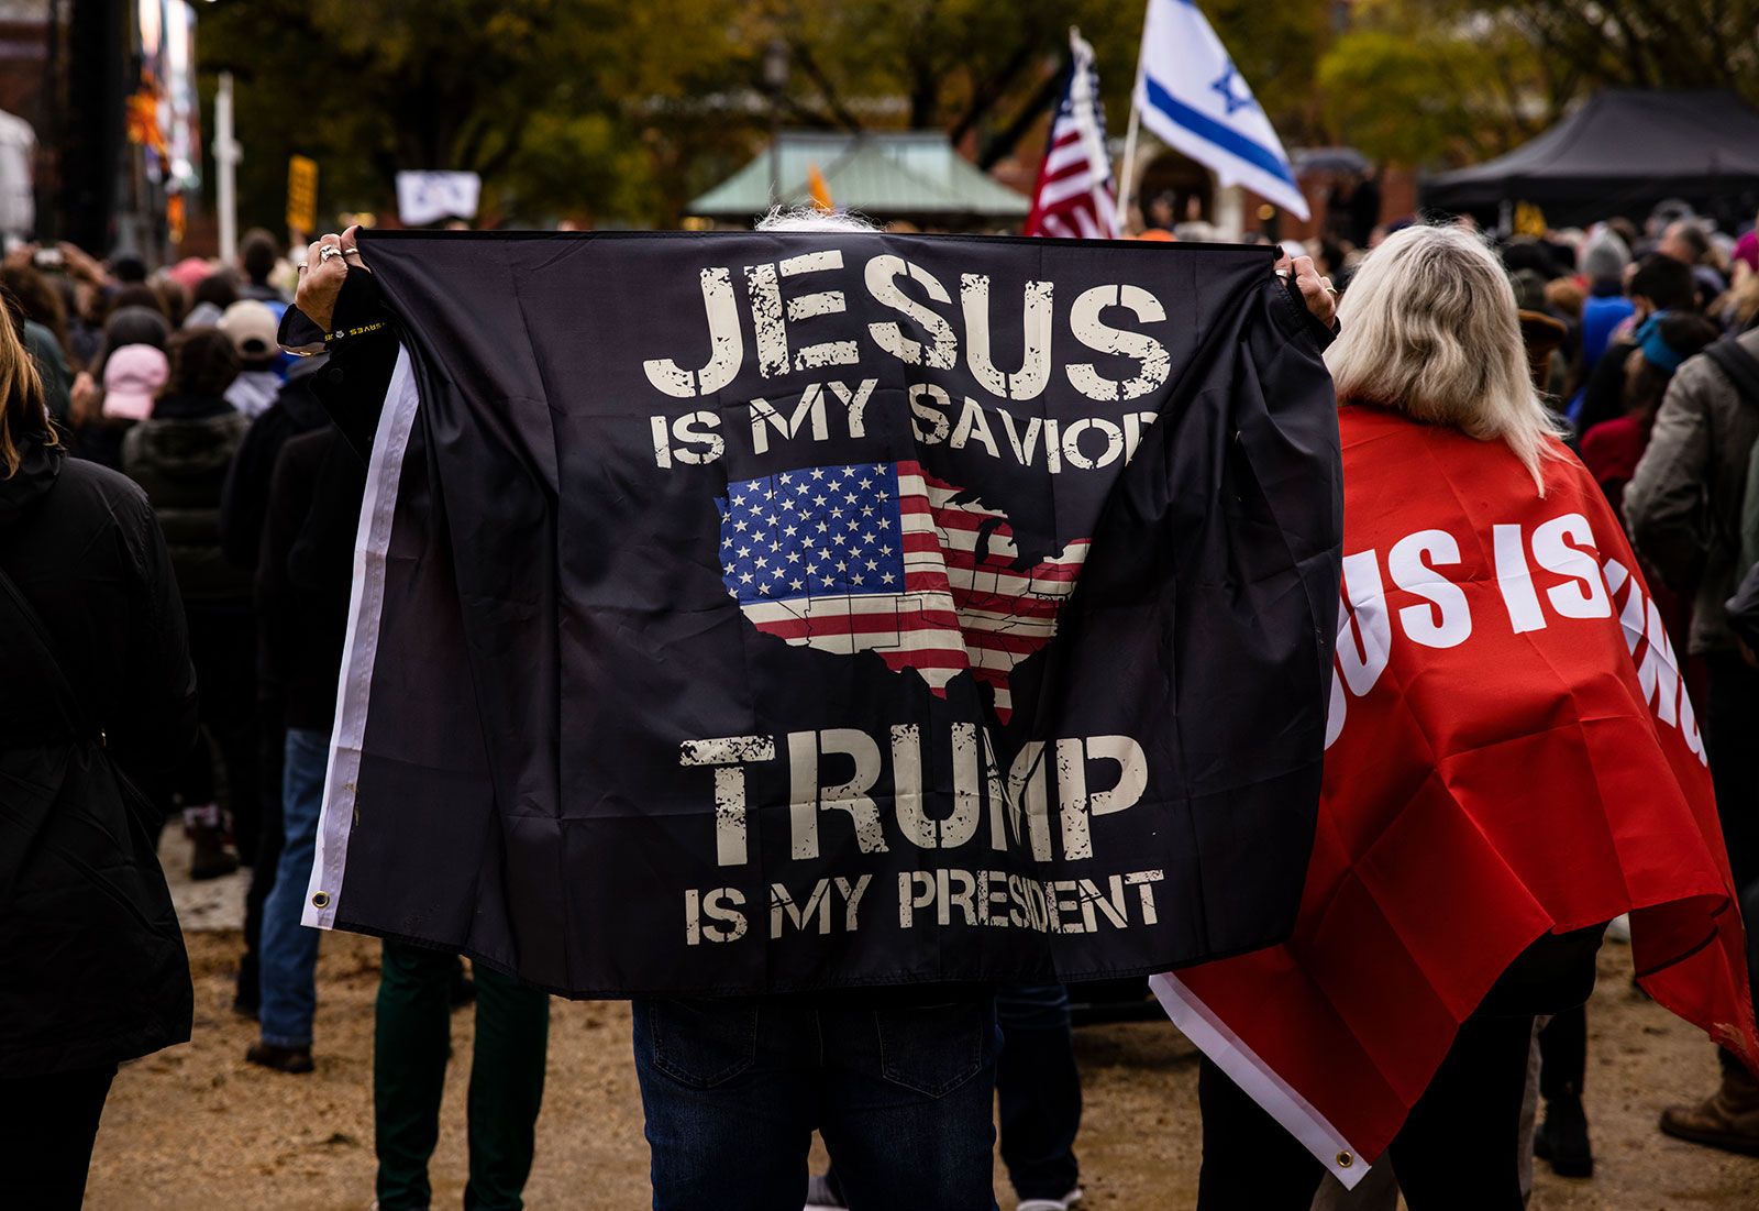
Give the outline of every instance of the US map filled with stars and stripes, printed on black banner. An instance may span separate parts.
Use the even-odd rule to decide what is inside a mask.
[[[1087,540],[1022,563],[1013,528],[918,463],[807,466],[728,484],[721,579],[753,627],[872,651],[938,697],[960,672],[1013,713],[1008,674],[1057,632]]]

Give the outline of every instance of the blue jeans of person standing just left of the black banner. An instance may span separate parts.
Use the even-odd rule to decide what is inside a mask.
[[[262,1042],[273,1047],[310,1047],[311,1016],[318,1007],[318,931],[299,917],[311,882],[318,811],[324,806],[324,767],[329,734],[287,729],[287,766],[281,771],[281,861],[274,887],[262,905]]]

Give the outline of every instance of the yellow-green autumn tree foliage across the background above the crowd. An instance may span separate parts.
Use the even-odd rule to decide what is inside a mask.
[[[280,215],[297,151],[325,215],[389,206],[399,169],[470,169],[500,220],[668,225],[772,121],[1036,157],[1071,25],[1122,134],[1145,2],[215,0],[197,44],[209,92],[237,81],[246,222]],[[1759,100],[1759,0],[1201,4],[1289,146],[1383,164],[1493,155],[1606,84]]]

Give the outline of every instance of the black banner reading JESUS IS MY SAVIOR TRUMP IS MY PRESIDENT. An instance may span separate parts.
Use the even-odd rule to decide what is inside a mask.
[[[1342,505],[1268,248],[361,248],[403,352],[308,924],[572,996],[1288,935]]]

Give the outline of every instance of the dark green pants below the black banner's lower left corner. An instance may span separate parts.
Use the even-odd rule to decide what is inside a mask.
[[[373,1134],[383,1211],[422,1211],[431,1197],[427,1158],[440,1139],[456,965],[440,950],[385,942],[373,1040]],[[547,1046],[549,996],[478,966],[466,1211],[524,1206]]]

